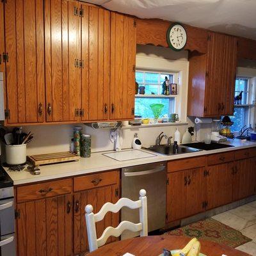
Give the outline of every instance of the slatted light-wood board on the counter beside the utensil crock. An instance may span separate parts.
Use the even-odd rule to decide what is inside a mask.
[[[35,166],[42,164],[52,164],[52,163],[63,163],[68,161],[78,161],[79,156],[73,152],[59,152],[52,154],[42,154],[28,156],[28,161],[33,163]]]

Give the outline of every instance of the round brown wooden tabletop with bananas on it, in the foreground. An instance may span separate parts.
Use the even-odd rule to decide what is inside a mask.
[[[117,241],[106,244],[88,253],[88,256],[122,256],[129,252],[135,256],[158,256],[163,253],[163,248],[175,250],[183,248],[191,238],[185,236],[147,236],[135,237],[132,239]],[[213,243],[211,241],[200,240],[201,253],[207,256],[248,256],[248,253],[241,252],[225,244]]]

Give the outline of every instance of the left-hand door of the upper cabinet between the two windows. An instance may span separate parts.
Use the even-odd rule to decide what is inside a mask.
[[[205,90],[205,116],[219,115],[224,35],[209,33]]]

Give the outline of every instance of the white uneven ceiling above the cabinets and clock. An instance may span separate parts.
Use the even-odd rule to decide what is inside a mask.
[[[140,18],[178,21],[256,40],[256,0],[84,0]]]

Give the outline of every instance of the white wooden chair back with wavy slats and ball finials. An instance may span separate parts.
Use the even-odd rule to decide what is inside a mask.
[[[124,206],[129,207],[130,209],[140,208],[140,223],[134,224],[131,221],[122,221],[116,228],[107,227],[103,231],[102,236],[97,239],[95,223],[103,220],[107,212],[118,212]],[[104,245],[109,236],[118,237],[124,230],[130,230],[132,232],[140,231],[140,236],[148,235],[147,196],[145,189],[140,190],[140,198],[138,201],[132,201],[129,198],[120,198],[116,204],[104,204],[96,214],[93,214],[92,205],[88,204],[85,207],[85,212],[90,252],[93,252]]]

